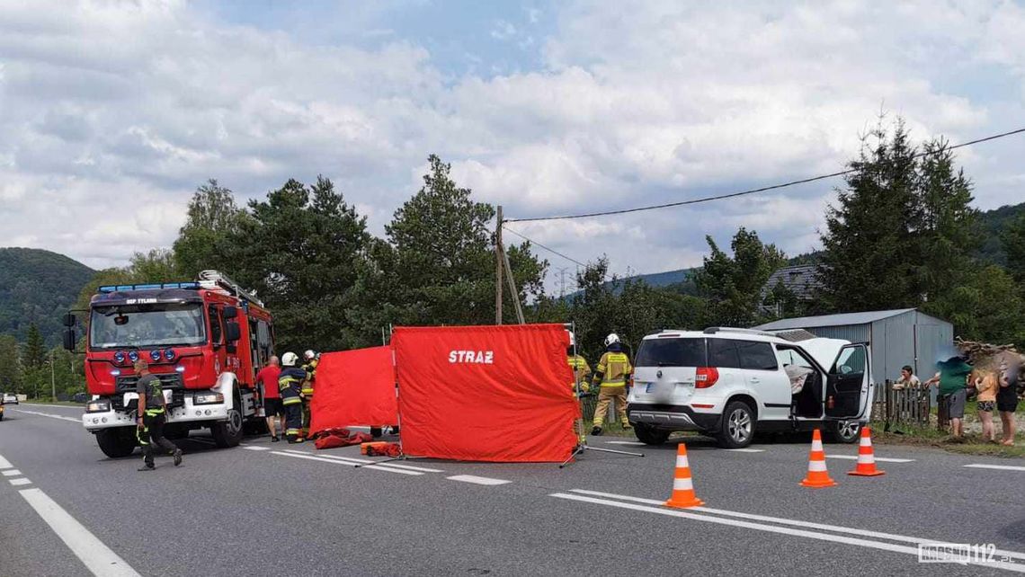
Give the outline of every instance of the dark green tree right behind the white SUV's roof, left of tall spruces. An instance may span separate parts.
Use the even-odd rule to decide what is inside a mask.
[[[708,299],[708,320],[712,324],[748,327],[764,318],[762,304],[769,277],[786,262],[786,256],[772,244],[763,244],[754,231],[741,228],[726,254],[711,237],[705,237],[710,254],[695,275],[701,295]]]

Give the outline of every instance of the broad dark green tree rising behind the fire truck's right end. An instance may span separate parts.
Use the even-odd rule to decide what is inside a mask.
[[[281,351],[337,351],[361,342],[347,312],[369,240],[366,218],[331,180],[290,179],[249,203],[222,269],[274,313]]]

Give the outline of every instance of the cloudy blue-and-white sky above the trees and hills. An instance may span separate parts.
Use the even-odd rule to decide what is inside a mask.
[[[917,139],[1025,126],[1023,30],[984,0],[2,0],[0,246],[122,264],[207,178],[254,198],[318,173],[380,233],[430,153],[511,217],[832,172],[880,110]],[[1025,201],[1023,157],[959,153],[980,208]],[[740,225],[796,254],[836,183],[510,229],[617,273],[700,263]]]

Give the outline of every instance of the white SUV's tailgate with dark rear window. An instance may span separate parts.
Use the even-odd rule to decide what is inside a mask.
[[[687,405],[698,367],[705,367],[705,339],[660,334],[641,342],[633,368],[633,402]]]

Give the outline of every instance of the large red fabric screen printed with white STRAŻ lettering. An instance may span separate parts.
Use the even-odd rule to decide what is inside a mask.
[[[407,455],[529,462],[573,451],[562,325],[399,327],[392,346]]]

